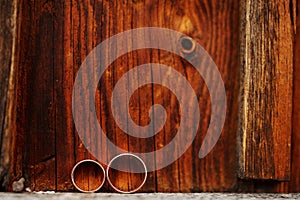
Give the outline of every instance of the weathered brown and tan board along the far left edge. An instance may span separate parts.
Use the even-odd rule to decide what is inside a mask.
[[[15,120],[16,1],[0,2],[0,188],[10,181]]]

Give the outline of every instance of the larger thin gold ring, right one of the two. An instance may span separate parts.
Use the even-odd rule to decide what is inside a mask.
[[[136,158],[137,160],[139,160],[139,161],[142,163],[142,165],[143,165],[143,167],[144,167],[144,169],[145,169],[145,177],[144,177],[143,182],[141,183],[141,185],[139,185],[139,187],[137,187],[137,188],[135,188],[135,189],[133,189],[133,190],[129,190],[129,191],[121,190],[121,189],[117,188],[117,187],[110,181],[110,178],[109,178],[109,168],[110,168],[110,166],[112,165],[112,163],[113,163],[116,159],[118,159],[118,158],[120,158],[120,157],[122,157],[122,156],[132,156],[132,157]],[[107,180],[108,180],[109,185],[110,185],[114,190],[116,190],[117,192],[123,193],[123,194],[130,194],[130,193],[134,193],[134,192],[138,191],[138,190],[141,189],[141,187],[143,187],[143,185],[145,184],[146,179],[147,179],[147,167],[146,167],[146,164],[144,163],[144,161],[143,161],[140,157],[138,157],[138,156],[136,156],[136,155],[134,155],[134,154],[132,154],[132,153],[123,153],[123,154],[119,154],[119,155],[115,156],[115,157],[109,162],[109,164],[108,164],[108,166],[107,166],[107,168],[106,168],[106,177],[107,177]]]

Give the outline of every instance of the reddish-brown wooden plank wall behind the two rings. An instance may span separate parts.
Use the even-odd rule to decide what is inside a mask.
[[[138,50],[118,58],[99,83],[96,108],[104,131],[120,147],[138,152],[162,148],[176,134],[179,120],[175,96],[161,86],[147,85],[133,95],[131,115],[136,123],[145,125],[149,120],[149,107],[160,103],[168,113],[163,130],[153,138],[139,140],[127,136],[115,125],[109,110],[113,86],[133,67],[149,62],[172,66],[186,76],[202,98],[199,105],[201,126],[192,146],[172,165],[149,173],[141,191],[299,192],[299,35],[294,47],[290,181],[238,178],[239,8],[238,0],[20,1],[16,50],[16,156],[13,158],[17,167],[12,169],[11,180],[24,176],[31,190],[74,191],[70,180],[73,165],[92,158],[81,143],[72,120],[71,94],[76,73],[88,53],[101,41],[132,28],[156,26],[189,35],[211,55],[225,83],[227,115],[217,145],[208,156],[198,159],[210,119],[209,94],[201,77],[187,61],[164,51]],[[136,179],[128,176],[127,181],[134,183]],[[112,189],[106,183],[101,191]]]

